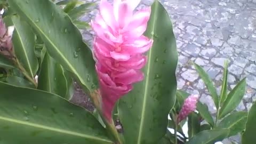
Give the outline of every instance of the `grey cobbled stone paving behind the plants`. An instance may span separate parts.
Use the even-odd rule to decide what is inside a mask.
[[[142,0],[140,6],[151,2]],[[161,0],[161,3],[170,14],[177,38],[178,89],[200,94],[200,100],[207,104],[214,116],[214,103],[190,61],[207,71],[220,92],[223,63],[228,59],[229,90],[247,77],[246,94],[236,110],[250,109],[256,100],[256,1]],[[95,13],[97,11],[92,11],[82,19],[88,21]],[[86,42],[91,42],[92,35],[92,32],[83,32]],[[239,139],[235,136],[223,143],[238,142]]]

